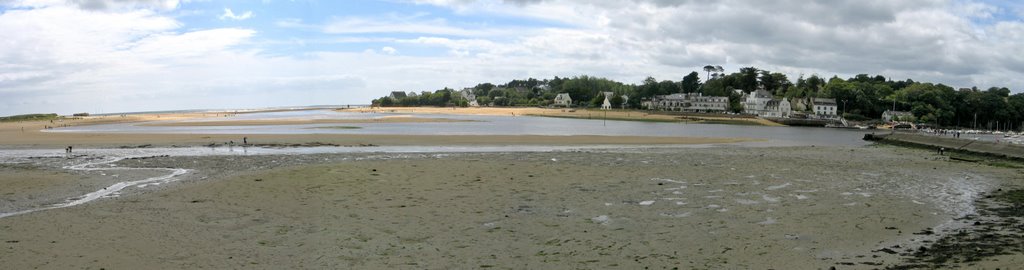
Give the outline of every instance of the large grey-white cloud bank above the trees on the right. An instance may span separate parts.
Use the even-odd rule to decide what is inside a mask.
[[[997,19],[1005,7],[970,0],[668,1],[415,0],[464,14],[556,21],[510,46],[548,58],[634,65],[599,76],[678,80],[705,64],[755,65],[793,78],[881,73],[954,86],[1024,85],[1016,57],[1024,30]],[[1010,10],[1019,10],[1010,7]],[[625,68],[625,66],[624,66]],[[590,69],[601,72],[602,69]],[[1015,91],[1020,91],[1015,89]]]

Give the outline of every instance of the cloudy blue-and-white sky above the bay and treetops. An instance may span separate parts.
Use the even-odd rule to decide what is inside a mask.
[[[708,64],[1020,93],[1022,18],[1016,0],[0,0],[0,116],[367,104]]]

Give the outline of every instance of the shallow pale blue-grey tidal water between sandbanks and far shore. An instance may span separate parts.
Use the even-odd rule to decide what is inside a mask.
[[[274,111],[213,118],[224,120],[285,120],[285,119],[379,119],[406,116],[402,114],[347,112],[334,110]],[[839,145],[868,144],[861,138],[865,131],[807,127],[762,127],[717,124],[651,123],[636,121],[604,121],[597,115],[592,120],[546,117],[408,115],[412,118],[443,118],[469,120],[454,123],[353,123],[282,126],[219,126],[219,127],[153,127],[137,124],[115,124],[69,127],[49,132],[94,133],[189,133],[189,134],[389,134],[389,135],[604,135],[604,136],[668,136],[668,137],[728,137],[767,139],[772,145]],[[324,129],[324,127],[357,127],[357,129]]]

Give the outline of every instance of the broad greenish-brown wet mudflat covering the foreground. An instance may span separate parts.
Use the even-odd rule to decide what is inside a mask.
[[[891,146],[167,156],[118,166],[194,173],[0,219],[0,265],[871,269],[899,260],[878,250],[920,245],[931,236],[913,232],[969,212],[982,192],[1022,184],[1016,169]],[[998,260],[982,266],[1022,263]]]

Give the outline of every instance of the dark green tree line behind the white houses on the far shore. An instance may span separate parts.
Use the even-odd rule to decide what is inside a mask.
[[[850,120],[876,120],[885,110],[895,109],[910,111],[920,123],[943,127],[1020,129],[1024,125],[1024,93],[1011,95],[1006,87],[954,89],[943,84],[910,79],[896,81],[866,74],[848,79],[800,76],[792,81],[784,74],[753,66],[726,74],[721,66],[707,65],[702,72],[709,80],[702,81],[701,74],[696,71],[679,81],[658,81],[648,77],[640,84],[625,84],[591,76],[528,78],[499,85],[481,83],[469,88],[469,91],[480,105],[546,106],[558,93],[568,93],[577,106],[594,107],[603,103],[602,92],[612,92],[614,99],[610,101],[616,108],[640,108],[641,100],[655,95],[700,93],[727,96],[730,110],[740,112],[742,94],[763,89],[778,98],[834,98],[839,110]],[[458,91],[445,88],[399,100],[378,98],[374,99],[374,104],[466,105],[463,101]]]

